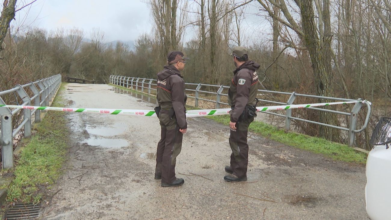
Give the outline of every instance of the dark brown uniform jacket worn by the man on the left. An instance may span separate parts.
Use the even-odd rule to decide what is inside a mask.
[[[165,66],[158,73],[157,95],[158,103],[163,110],[174,108],[179,128],[186,129],[186,93],[185,81],[181,73],[173,65]]]

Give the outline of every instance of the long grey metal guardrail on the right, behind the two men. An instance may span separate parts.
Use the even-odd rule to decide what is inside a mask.
[[[109,78],[109,83],[113,85],[118,85],[118,86],[123,86],[126,88],[131,88],[138,90],[138,88],[141,88],[141,92],[144,92],[144,88],[148,89],[148,94],[151,94],[151,90],[155,90],[156,88],[152,88],[152,85],[156,87],[157,80],[156,79],[146,79],[146,78],[135,78],[135,77],[127,77],[127,76],[114,76],[111,75]],[[141,85],[140,85],[141,84]],[[147,85],[145,87],[144,85]],[[220,108],[220,105],[228,105],[228,103],[221,102],[221,96],[228,96],[228,94],[223,93],[224,89],[228,89],[230,87],[224,86],[224,85],[208,85],[208,84],[201,84],[201,83],[185,83],[187,87],[195,87],[195,89],[190,89],[186,88],[186,91],[191,91],[194,92],[195,96],[187,96],[190,98],[194,98],[195,102],[194,105],[197,107],[198,106],[198,101],[199,100],[204,100],[204,101],[209,101],[216,103],[216,108]],[[203,91],[201,88],[205,87],[215,87],[217,88],[217,92],[210,92],[210,91]],[[266,103],[271,103],[273,105],[292,105],[294,104],[293,102],[295,101],[296,97],[309,97],[309,98],[316,98],[316,99],[329,99],[329,100],[335,100],[335,101],[362,101],[362,99],[344,99],[344,98],[336,98],[336,97],[326,97],[326,96],[314,96],[314,95],[307,95],[307,94],[299,94],[296,92],[277,92],[277,91],[270,91],[270,90],[258,90],[260,93],[266,93],[266,94],[283,94],[283,95],[289,95],[289,98],[286,103],[278,102],[278,101],[271,101],[271,100],[266,100],[266,99],[259,99],[260,101],[264,101]],[[200,98],[199,94],[204,93],[204,94],[215,94],[216,95],[216,100],[210,100],[210,99],[204,99]],[[367,115],[365,118],[364,125],[360,129],[356,129],[357,125],[357,114],[360,112],[362,106],[364,104],[362,102],[356,103],[351,112],[341,112],[341,111],[335,111],[335,110],[329,110],[329,109],[324,109],[324,108],[313,108],[309,107],[308,109],[312,110],[318,110],[318,111],[323,111],[323,112],[330,112],[333,114],[341,114],[341,115],[346,115],[350,117],[350,124],[348,127],[341,127],[341,126],[335,126],[332,124],[324,124],[320,123],[317,121],[310,121],[307,119],[301,119],[298,117],[292,117],[292,109],[287,109],[286,114],[278,114],[275,112],[267,112],[267,111],[261,111],[266,114],[271,114],[271,115],[276,115],[279,117],[284,117],[285,118],[285,130],[291,130],[291,121],[292,119],[298,120],[298,121],[304,121],[307,123],[313,123],[313,124],[318,124],[321,126],[327,126],[331,128],[336,128],[339,130],[344,130],[348,132],[348,145],[353,146],[354,140],[355,140],[355,133],[362,132],[366,126],[368,125],[369,121],[369,116],[371,114],[371,105],[367,102],[365,102],[365,105],[367,106]]]

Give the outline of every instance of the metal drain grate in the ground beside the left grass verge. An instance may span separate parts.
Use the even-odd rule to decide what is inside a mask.
[[[9,207],[5,219],[35,219],[39,215],[40,204],[15,204]]]

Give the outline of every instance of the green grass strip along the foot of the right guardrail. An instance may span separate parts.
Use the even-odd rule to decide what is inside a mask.
[[[136,90],[128,89],[125,87],[120,87],[117,85],[110,84],[113,87],[117,87],[123,90],[129,90],[138,94],[143,94],[145,96],[155,97],[150,94],[145,94]],[[186,106],[187,110],[197,110],[200,108],[194,106]],[[218,116],[206,116],[214,121],[222,124],[230,123],[229,115],[218,115]],[[326,139],[319,137],[311,137],[308,135],[303,135],[300,133],[285,132],[280,130],[275,126],[266,124],[260,121],[254,121],[249,126],[249,131],[260,134],[264,137],[267,137],[271,140],[278,141],[282,144],[289,146],[294,146],[300,149],[308,150],[313,153],[320,153],[334,160],[341,160],[344,162],[352,162],[365,164],[367,156],[365,153],[357,152],[353,148],[345,145],[339,144],[332,141],[327,141]]]

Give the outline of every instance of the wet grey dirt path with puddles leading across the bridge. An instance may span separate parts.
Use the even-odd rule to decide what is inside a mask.
[[[154,104],[108,85],[68,84],[69,106],[152,109]],[[188,119],[177,177],[154,180],[160,126],[156,117],[68,114],[72,146],[51,189],[43,219],[368,219],[364,167],[250,133],[248,181],[223,180],[228,126]]]

